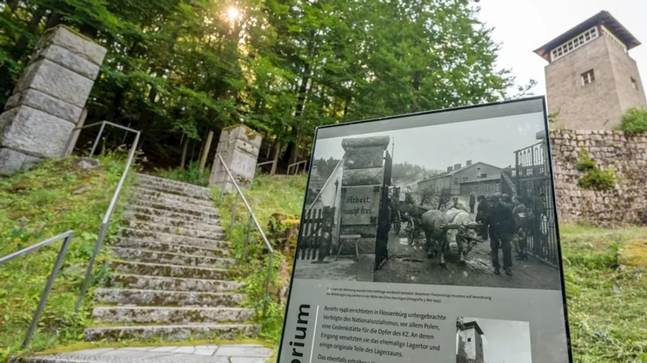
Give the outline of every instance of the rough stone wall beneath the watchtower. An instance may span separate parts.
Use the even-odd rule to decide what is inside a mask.
[[[611,130],[551,131],[553,171],[560,222],[615,227],[647,223],[647,136]],[[586,147],[600,169],[619,178],[613,189],[591,191],[578,186],[584,173],[576,169]]]

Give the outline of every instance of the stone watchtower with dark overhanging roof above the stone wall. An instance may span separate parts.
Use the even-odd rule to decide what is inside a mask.
[[[636,62],[641,43],[606,11],[534,52],[545,68],[549,112],[566,129],[611,129],[630,107],[647,105]]]

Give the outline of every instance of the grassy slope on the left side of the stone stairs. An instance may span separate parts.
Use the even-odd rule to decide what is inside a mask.
[[[103,156],[100,160],[103,168],[87,171],[74,170],[69,160],[46,161],[32,171],[0,180],[0,256],[74,230],[72,244],[41,317],[40,329],[28,351],[82,338],[82,329],[72,319],[74,305],[96,234],[125,161],[116,155]],[[73,191],[76,193],[72,194]],[[109,235],[116,233],[119,214],[120,208],[113,216]],[[20,351],[61,243],[0,266],[0,362],[10,353]],[[98,266],[105,255],[104,249]],[[105,271],[96,267],[94,280],[103,277]],[[91,291],[87,296],[91,296]]]

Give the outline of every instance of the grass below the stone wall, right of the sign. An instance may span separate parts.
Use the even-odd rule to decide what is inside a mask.
[[[647,362],[647,276],[617,259],[647,228],[566,225],[560,233],[575,362]]]

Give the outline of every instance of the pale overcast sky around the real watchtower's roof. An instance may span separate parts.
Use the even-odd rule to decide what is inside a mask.
[[[545,95],[545,59],[532,50],[541,47],[575,25],[607,10],[642,43],[647,43],[645,0],[481,0],[479,19],[494,27],[494,41],[501,44],[499,65],[512,68],[518,83],[536,79],[537,95]],[[647,72],[647,45],[629,51],[638,63],[643,86]],[[550,100],[549,100],[550,102]]]

